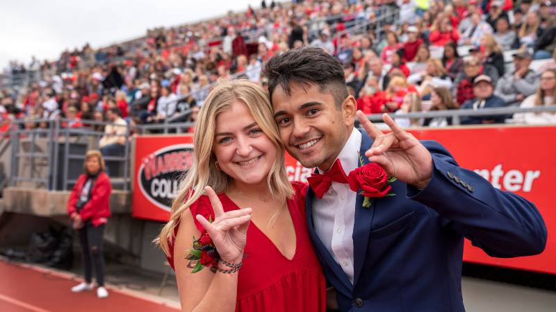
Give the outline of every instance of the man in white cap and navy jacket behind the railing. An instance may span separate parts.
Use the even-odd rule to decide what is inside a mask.
[[[486,75],[480,75],[473,80],[473,93],[475,98],[466,101],[461,105],[461,110],[483,110],[485,108],[505,107],[506,103],[502,98],[493,94],[494,86],[492,79]],[[505,123],[505,115],[494,116],[461,116],[461,124],[485,124],[485,123]]]

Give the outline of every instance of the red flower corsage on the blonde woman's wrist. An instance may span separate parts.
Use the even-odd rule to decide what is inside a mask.
[[[208,219],[211,221],[211,219]],[[220,260],[220,254],[216,250],[211,236],[208,235],[206,231],[203,231],[199,239],[193,237],[193,249],[188,250],[186,259],[189,260],[188,268],[192,268],[192,273],[199,272],[205,266],[210,268],[214,273],[218,267],[218,260]]]

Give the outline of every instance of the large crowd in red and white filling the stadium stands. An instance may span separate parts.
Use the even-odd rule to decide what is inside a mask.
[[[27,120],[25,128],[47,128],[35,120],[60,117],[73,119],[64,124],[71,128],[88,126],[86,120],[194,121],[216,80],[245,76],[264,87],[265,61],[306,45],[342,62],[348,89],[366,114],[553,105],[555,12],[548,0],[262,1],[256,10],[149,30],[114,46],[95,50],[85,44],[54,62],[11,62],[3,81],[19,83],[5,83],[0,91],[2,130],[14,119]],[[395,17],[369,22],[380,15]],[[461,123],[504,123],[509,117]],[[513,119],[556,123],[556,114]],[[444,117],[398,122],[452,123]]]

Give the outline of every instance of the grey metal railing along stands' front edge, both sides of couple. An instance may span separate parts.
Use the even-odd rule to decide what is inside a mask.
[[[556,112],[556,105],[531,108],[502,107],[482,110],[443,110],[434,112],[414,112],[407,114],[391,114],[394,118],[434,118],[451,117],[452,126],[459,125],[461,116],[510,116],[523,112]],[[382,114],[368,115],[374,122],[382,121]],[[18,183],[31,182],[33,187],[49,190],[70,190],[81,173],[85,153],[91,148],[98,148],[99,138],[104,132],[92,128],[63,128],[69,119],[49,120],[36,119],[32,121],[13,121],[9,134],[4,134],[0,144],[0,156],[11,147],[10,176],[11,186]],[[86,125],[108,125],[97,121],[82,121]],[[25,123],[46,123],[48,128],[25,129]],[[131,182],[131,132],[136,135],[186,133],[195,124],[188,123],[156,123],[138,125],[131,129],[126,125],[126,144],[123,155],[105,156],[108,164],[117,164],[112,168],[120,168],[118,172],[111,172],[113,184],[129,190]],[[498,124],[502,126],[502,124]],[[359,126],[359,124],[357,124]],[[380,126],[380,124],[379,124]],[[8,143],[4,143],[8,142]],[[111,168],[111,166],[108,166]],[[116,170],[117,171],[117,170]],[[26,174],[28,173],[28,174]]]

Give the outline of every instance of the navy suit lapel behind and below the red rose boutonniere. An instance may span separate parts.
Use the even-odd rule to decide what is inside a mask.
[[[361,149],[359,155],[363,159],[363,165],[368,164],[369,160],[365,156],[365,152],[373,144],[371,139],[365,131],[361,131]],[[361,166],[361,163],[359,163]],[[370,225],[373,223],[373,216],[375,216],[376,200],[373,200],[370,207],[363,207],[364,197],[360,195],[361,190],[357,192],[357,200],[355,202],[355,223],[353,225],[353,284],[357,285],[359,275],[365,263],[365,255],[367,254]]]

